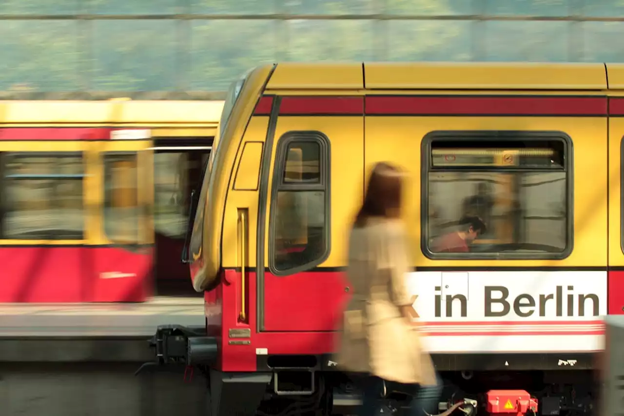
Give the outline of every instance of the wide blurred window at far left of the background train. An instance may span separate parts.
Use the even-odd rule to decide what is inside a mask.
[[[2,154],[2,238],[80,240],[82,154]]]

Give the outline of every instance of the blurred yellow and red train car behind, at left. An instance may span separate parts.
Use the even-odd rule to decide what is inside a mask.
[[[0,102],[0,302],[142,302],[188,282],[174,256],[222,109]]]

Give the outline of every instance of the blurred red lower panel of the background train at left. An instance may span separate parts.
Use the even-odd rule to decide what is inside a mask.
[[[144,302],[153,250],[0,247],[0,302]]]

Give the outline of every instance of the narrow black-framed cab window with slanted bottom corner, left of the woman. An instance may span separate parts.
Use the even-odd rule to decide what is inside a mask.
[[[319,132],[288,132],[275,157],[270,268],[286,275],[329,255],[329,141]]]

